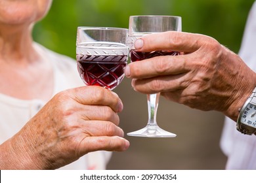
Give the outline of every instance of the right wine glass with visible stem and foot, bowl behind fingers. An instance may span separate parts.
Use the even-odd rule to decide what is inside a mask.
[[[156,56],[177,56],[179,52],[171,50],[156,50],[154,52],[137,52],[134,42],[142,37],[152,33],[160,33],[163,31],[181,31],[181,17],[179,16],[130,16],[129,33],[127,38],[127,46],[129,46],[129,56],[131,61],[140,61],[142,59],[153,58]],[[127,133],[129,136],[136,137],[176,137],[174,133],[170,133],[161,129],[156,122],[156,113],[158,110],[158,101],[160,93],[147,95],[148,100],[148,124],[146,127]]]

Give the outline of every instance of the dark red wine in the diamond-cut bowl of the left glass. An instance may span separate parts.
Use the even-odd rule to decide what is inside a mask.
[[[77,54],[77,69],[88,86],[113,90],[123,80],[127,56],[91,56]]]

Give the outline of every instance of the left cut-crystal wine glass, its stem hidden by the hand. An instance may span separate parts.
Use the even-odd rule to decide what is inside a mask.
[[[85,85],[113,90],[123,80],[128,29],[77,27],[77,70]]]

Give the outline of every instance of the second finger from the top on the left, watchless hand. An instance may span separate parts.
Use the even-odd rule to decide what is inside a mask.
[[[119,116],[112,108],[99,105],[81,105],[79,114],[83,120],[109,121],[119,125]]]

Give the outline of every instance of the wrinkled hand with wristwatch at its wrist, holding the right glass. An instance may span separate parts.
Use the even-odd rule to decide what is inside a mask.
[[[180,56],[159,56],[130,63],[125,75],[134,90],[161,92],[163,97],[200,110],[218,110],[236,120],[238,108],[256,86],[255,73],[242,59],[205,35],[169,31],[135,41],[140,52],[173,50]]]

